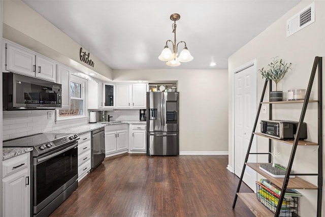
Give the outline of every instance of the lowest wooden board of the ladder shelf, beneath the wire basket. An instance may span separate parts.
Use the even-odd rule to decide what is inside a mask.
[[[254,193],[237,193],[238,197],[257,217],[273,217],[274,213],[259,202]]]

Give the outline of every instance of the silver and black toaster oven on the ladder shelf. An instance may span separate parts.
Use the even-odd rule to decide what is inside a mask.
[[[276,139],[294,139],[298,128],[298,121],[291,120],[261,120],[261,134]],[[299,139],[307,139],[307,124],[301,124]]]

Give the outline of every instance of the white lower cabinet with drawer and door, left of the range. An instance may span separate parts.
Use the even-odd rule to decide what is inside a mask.
[[[30,216],[30,153],[3,161],[2,216]]]

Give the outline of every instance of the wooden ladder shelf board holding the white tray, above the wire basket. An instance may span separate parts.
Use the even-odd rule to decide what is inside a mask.
[[[259,169],[259,163],[246,163],[246,165],[252,168],[253,170],[255,170],[256,172],[258,172],[259,174],[261,174],[262,176],[266,177],[270,181],[272,181],[279,188],[282,188],[284,178],[275,178],[270,176],[268,173]],[[317,189],[317,186],[296,176],[295,178],[289,178],[287,188],[288,189]]]

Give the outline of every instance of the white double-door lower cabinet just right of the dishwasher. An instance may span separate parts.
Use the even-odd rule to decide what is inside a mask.
[[[128,125],[105,126],[105,153],[106,157],[125,153],[128,150]]]

